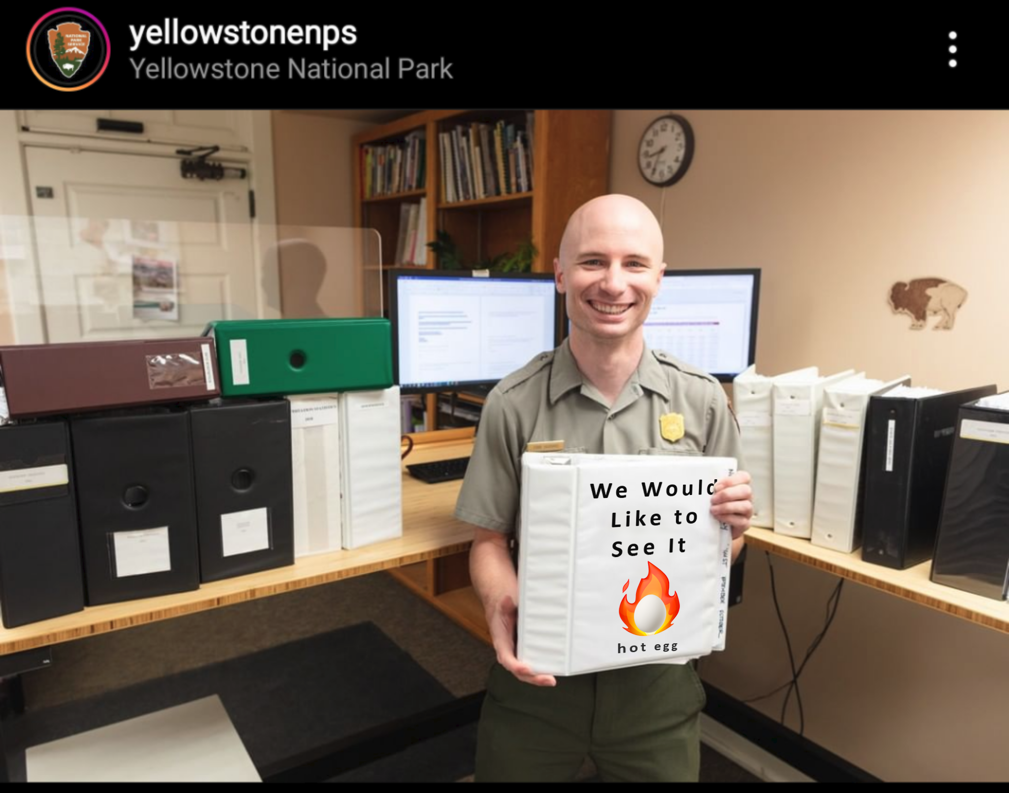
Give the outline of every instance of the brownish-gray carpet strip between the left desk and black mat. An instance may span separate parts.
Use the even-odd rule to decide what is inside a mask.
[[[57,645],[51,667],[23,676],[25,699],[33,710],[52,707],[362,621],[377,626],[453,696],[483,689],[493,651],[375,573]],[[398,761],[408,769],[413,762],[418,776],[407,779],[420,779],[423,750]],[[355,773],[374,779],[382,770],[371,764]],[[702,747],[701,781],[759,780]]]

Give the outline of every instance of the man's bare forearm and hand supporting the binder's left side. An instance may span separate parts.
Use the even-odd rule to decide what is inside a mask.
[[[519,579],[509,552],[508,536],[487,529],[476,529],[469,551],[469,576],[483,603],[490,641],[497,663],[524,683],[555,686],[553,675],[541,675],[515,654],[516,629],[519,625]]]

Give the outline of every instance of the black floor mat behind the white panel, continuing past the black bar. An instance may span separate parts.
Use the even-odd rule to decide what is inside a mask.
[[[14,749],[220,696],[257,768],[347,740],[454,697],[372,622],[300,639],[14,719]],[[333,781],[452,781],[473,771],[475,724]],[[15,779],[15,781],[17,781]]]

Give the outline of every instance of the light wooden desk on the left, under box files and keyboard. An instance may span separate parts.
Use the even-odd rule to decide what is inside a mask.
[[[418,444],[406,462],[463,457],[469,454],[471,448],[470,440]],[[401,538],[354,551],[334,551],[303,557],[288,567],[206,583],[191,592],[88,606],[74,614],[20,628],[0,629],[0,655],[184,616],[404,565],[420,564],[427,572],[428,568],[436,569],[427,564],[429,560],[441,557],[456,555],[457,560],[464,559],[472,541],[472,528],[452,518],[460,485],[461,481],[425,484],[410,476],[404,469]],[[458,567],[459,564],[456,561],[455,566]],[[408,569],[401,580],[411,585],[415,591],[425,594],[426,583],[418,576],[419,571],[420,568]],[[447,576],[441,577],[444,579]],[[446,583],[449,582],[432,581],[428,591],[440,594]],[[468,585],[468,577],[465,585]],[[479,616],[482,620],[482,613]]]

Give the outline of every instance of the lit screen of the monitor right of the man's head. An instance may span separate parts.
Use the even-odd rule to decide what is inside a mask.
[[[645,320],[645,343],[732,382],[756,358],[760,272],[667,268]]]

